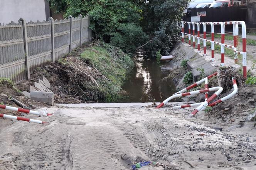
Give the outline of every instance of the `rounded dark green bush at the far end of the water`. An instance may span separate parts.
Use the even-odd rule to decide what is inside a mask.
[[[121,48],[126,53],[134,53],[136,48],[148,40],[148,36],[134,23],[123,23],[118,32],[111,37],[111,44]]]

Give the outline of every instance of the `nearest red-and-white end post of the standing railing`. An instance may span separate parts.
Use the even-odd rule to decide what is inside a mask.
[[[242,25],[242,39],[243,39],[243,75],[247,78],[247,63],[246,63],[246,25],[241,21]]]

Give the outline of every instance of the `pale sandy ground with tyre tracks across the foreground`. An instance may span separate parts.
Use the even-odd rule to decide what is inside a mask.
[[[254,122],[216,120],[190,110],[54,106],[35,124],[0,119],[1,170],[121,170],[132,163],[167,166],[141,170],[256,169]],[[26,116],[28,117],[28,116]],[[222,128],[222,131],[218,129]]]

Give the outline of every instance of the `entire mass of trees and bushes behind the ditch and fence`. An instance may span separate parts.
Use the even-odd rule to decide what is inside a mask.
[[[51,0],[65,17],[89,14],[94,38],[134,53],[143,46],[152,57],[167,55],[179,39],[189,0]],[[146,43],[147,42],[147,43]],[[146,44],[146,45],[145,45]]]

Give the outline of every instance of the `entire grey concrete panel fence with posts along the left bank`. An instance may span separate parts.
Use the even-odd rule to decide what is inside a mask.
[[[89,16],[44,22],[11,22],[0,25],[0,77],[14,82],[30,79],[37,67],[71,53],[91,40]]]

